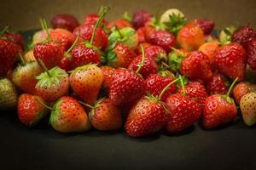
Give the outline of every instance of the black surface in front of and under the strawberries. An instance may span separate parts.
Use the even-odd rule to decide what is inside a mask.
[[[26,32],[26,35],[31,32]],[[1,112],[0,169],[255,169],[256,127],[241,120],[216,130],[133,139],[124,130],[61,134],[47,125],[23,126]]]

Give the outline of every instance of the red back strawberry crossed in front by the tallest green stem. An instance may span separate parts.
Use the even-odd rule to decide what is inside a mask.
[[[79,41],[90,42],[94,27],[95,25],[92,24],[79,26],[73,30],[73,35],[77,37],[80,31]],[[96,48],[102,49],[103,51],[108,47],[108,35],[100,27],[97,27],[96,29],[96,35],[93,40],[93,45],[96,46]]]

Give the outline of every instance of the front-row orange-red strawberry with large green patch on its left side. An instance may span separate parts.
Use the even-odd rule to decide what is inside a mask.
[[[64,96],[59,99],[49,117],[49,123],[58,132],[78,133],[90,128],[86,112],[78,100]]]

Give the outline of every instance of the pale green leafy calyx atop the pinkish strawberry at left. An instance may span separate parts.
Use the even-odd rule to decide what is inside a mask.
[[[59,86],[61,77],[68,77],[67,72],[56,66],[36,77],[39,80],[37,87],[42,88],[46,85],[47,88],[50,88],[52,84]]]

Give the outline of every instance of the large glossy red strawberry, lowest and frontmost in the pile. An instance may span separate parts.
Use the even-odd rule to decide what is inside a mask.
[[[131,108],[125,131],[131,137],[141,137],[159,131],[169,120],[160,103],[143,97]]]

